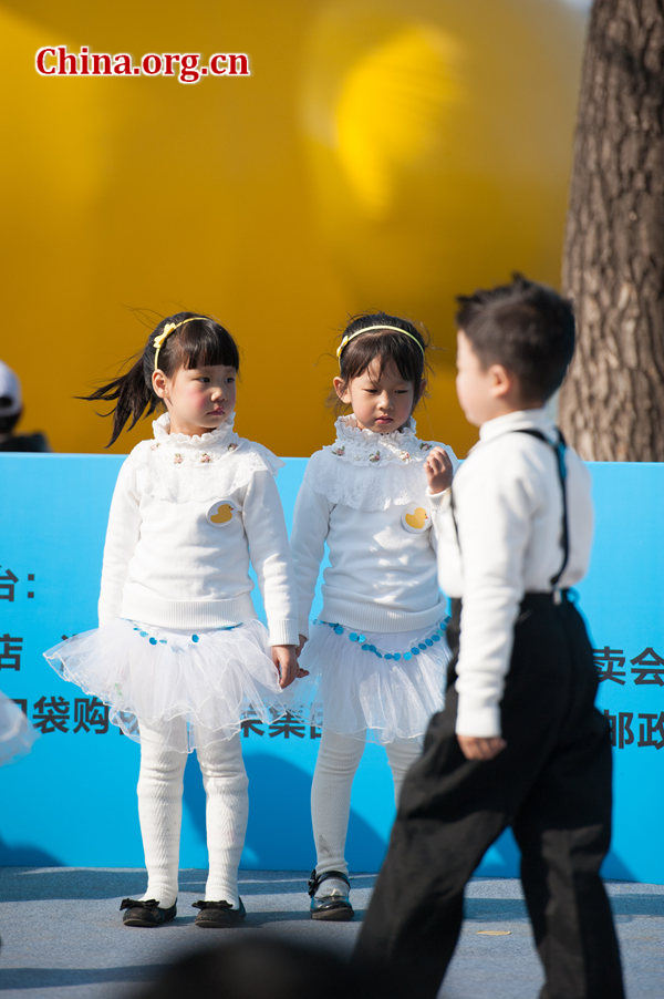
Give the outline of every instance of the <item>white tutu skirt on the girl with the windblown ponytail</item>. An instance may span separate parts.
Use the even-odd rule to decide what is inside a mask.
[[[115,619],[44,652],[53,669],[108,704],[108,718],[141,741],[139,722],[165,722],[168,748],[190,752],[229,739],[246,719],[271,723],[294,711],[281,690],[268,632],[257,620],[183,631]],[[167,730],[167,734],[166,734]]]

